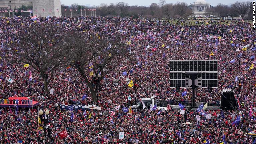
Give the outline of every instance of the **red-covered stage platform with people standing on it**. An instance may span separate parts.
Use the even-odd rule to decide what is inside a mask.
[[[12,101],[13,99],[14,100],[18,99],[19,100],[18,107],[21,107],[21,108],[33,108],[33,107],[39,105],[39,102],[37,102],[37,101],[32,101],[32,105],[31,104],[22,104],[22,100],[29,100],[28,97],[9,97],[8,99],[9,99],[9,101]],[[14,107],[15,105],[17,105],[17,104],[0,104],[0,107],[10,107],[10,106]]]

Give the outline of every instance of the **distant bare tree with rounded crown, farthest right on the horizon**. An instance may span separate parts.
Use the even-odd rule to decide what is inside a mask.
[[[236,1],[234,4],[231,5],[232,9],[241,16],[243,19],[244,16],[248,13],[250,8],[250,2],[244,1],[244,2],[238,2]]]

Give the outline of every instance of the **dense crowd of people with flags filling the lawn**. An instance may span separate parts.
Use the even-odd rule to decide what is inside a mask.
[[[20,64],[9,64],[6,51],[12,48],[12,43],[20,31],[26,31],[31,25],[55,25],[66,30],[95,31],[105,34],[121,33],[129,41],[128,47],[135,54],[137,62],[120,62],[120,65],[101,81],[103,90],[100,92],[99,107],[84,113],[74,110],[75,119],[70,120],[70,111],[61,110],[60,104],[92,104],[90,89],[81,79],[75,69],[63,68],[56,71],[49,89],[54,94],[44,92],[41,76],[31,67],[23,68]],[[219,35],[218,38],[208,38],[209,35]],[[199,37],[202,37],[199,40]],[[38,101],[38,107],[1,108],[0,142],[1,143],[111,143],[111,144],[193,144],[203,143],[209,139],[211,144],[225,142],[230,144],[249,143],[247,134],[256,127],[255,122],[255,70],[250,68],[254,61],[256,35],[252,24],[243,21],[232,21],[220,24],[216,21],[188,26],[186,22],[170,23],[161,20],[141,20],[120,17],[40,17],[37,20],[29,18],[2,18],[0,20],[0,99],[29,97]],[[247,50],[243,47],[250,44]],[[238,50],[239,51],[238,51]],[[243,50],[242,50],[243,49]],[[235,59],[235,62],[230,63]],[[176,91],[169,84],[169,60],[218,60],[218,88],[211,92],[207,89],[197,89],[196,102],[220,103],[222,89],[234,88],[240,92],[240,110],[224,111],[206,110],[212,114],[211,119],[197,121],[196,111],[171,109],[158,114],[159,110],[132,109],[132,114],[122,111],[127,107],[127,98],[135,91],[127,86],[126,78],[138,84],[137,98],[155,96],[157,100],[171,102],[191,102],[192,90],[187,89],[187,95],[182,96],[184,89]],[[246,64],[245,64],[246,63]],[[245,64],[245,67],[241,65]],[[133,69],[132,72],[129,70]],[[250,69],[250,70],[249,70]],[[29,71],[32,70],[32,81],[29,81]],[[123,75],[122,72],[127,72]],[[89,73],[88,73],[89,74]],[[238,78],[237,80],[236,77]],[[11,78],[13,83],[8,82]],[[119,79],[119,84],[113,83]],[[237,85],[241,83],[241,90]],[[87,95],[86,99],[83,98]],[[238,95],[236,95],[238,100]],[[131,101],[135,101],[132,95]],[[114,109],[121,105],[119,110]],[[43,129],[38,123],[38,110],[50,111],[48,127],[52,128],[52,136],[44,137]],[[252,114],[249,115],[250,109]],[[112,112],[114,116],[110,116]],[[232,124],[241,115],[239,125]],[[184,123],[186,116],[186,123]],[[111,122],[110,118],[113,120]],[[68,137],[60,138],[59,133],[67,131]],[[119,132],[124,132],[124,138],[119,139]],[[106,136],[106,137],[105,137]],[[47,139],[47,142],[46,142]]]

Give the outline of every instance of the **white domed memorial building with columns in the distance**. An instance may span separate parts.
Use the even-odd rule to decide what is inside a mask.
[[[204,16],[205,10],[210,6],[205,0],[196,0],[194,4],[190,5],[194,16]]]

